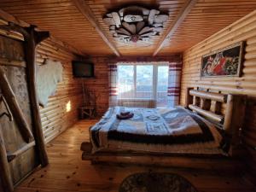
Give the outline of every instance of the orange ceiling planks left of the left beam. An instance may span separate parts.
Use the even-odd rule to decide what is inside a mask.
[[[114,55],[71,0],[1,0],[0,7],[87,55]]]

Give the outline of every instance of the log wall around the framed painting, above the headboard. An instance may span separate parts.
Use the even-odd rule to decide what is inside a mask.
[[[245,41],[245,55],[240,78],[200,78],[201,56],[230,44]],[[250,169],[256,170],[256,10],[237,20],[210,38],[183,53],[181,104],[185,104],[186,88],[200,86],[248,96],[243,143],[249,151],[246,158]],[[224,111],[224,108],[223,108]],[[254,148],[254,149],[253,149]]]

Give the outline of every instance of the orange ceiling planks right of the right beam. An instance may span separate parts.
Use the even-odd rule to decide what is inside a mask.
[[[252,0],[198,0],[159,54],[183,52],[255,9]]]

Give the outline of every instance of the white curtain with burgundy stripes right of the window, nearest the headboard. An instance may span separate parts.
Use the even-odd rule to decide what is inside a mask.
[[[181,70],[182,70],[181,62],[169,63],[168,94],[167,94],[168,108],[173,108],[179,104]]]

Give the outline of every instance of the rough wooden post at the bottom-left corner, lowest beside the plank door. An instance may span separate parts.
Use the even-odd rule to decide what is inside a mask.
[[[0,127],[0,177],[3,189],[6,191],[14,191],[14,183],[9,171],[9,163],[7,160],[6,148],[3,141],[3,134]]]

